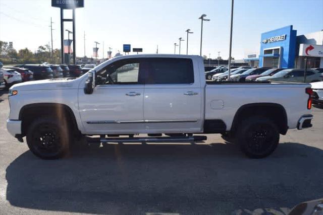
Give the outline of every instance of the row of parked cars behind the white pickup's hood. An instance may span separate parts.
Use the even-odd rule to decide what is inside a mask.
[[[94,64],[21,64],[3,66],[0,62],[0,89],[27,81],[79,77],[94,68]]]

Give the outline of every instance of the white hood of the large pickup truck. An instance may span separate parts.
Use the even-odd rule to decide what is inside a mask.
[[[58,89],[77,89],[79,79],[47,79],[39,81],[24,82],[15,84],[13,90],[58,90]]]

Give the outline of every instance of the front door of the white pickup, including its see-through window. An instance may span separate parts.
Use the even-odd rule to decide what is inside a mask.
[[[79,111],[87,134],[144,130],[144,85],[139,74],[139,59],[119,60],[96,72],[92,94],[79,89]]]

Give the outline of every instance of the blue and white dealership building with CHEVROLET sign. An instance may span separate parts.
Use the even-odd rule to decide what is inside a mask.
[[[277,68],[323,67],[323,30],[297,36],[293,26],[261,34],[260,51],[244,59],[252,66]]]

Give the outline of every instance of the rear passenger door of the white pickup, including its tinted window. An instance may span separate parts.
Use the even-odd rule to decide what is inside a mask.
[[[149,133],[198,132],[202,128],[202,89],[197,61],[146,58],[144,121]]]

